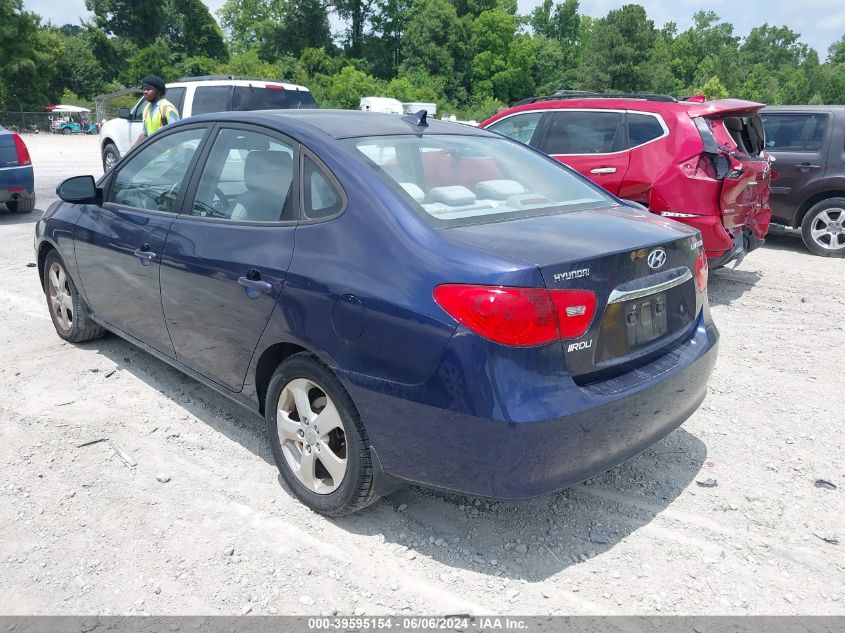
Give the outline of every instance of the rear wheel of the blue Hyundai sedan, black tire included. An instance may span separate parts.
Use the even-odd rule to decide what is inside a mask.
[[[358,411],[316,356],[303,352],[279,365],[267,390],[265,419],[282,479],[309,508],[343,516],[375,500],[369,442]]]

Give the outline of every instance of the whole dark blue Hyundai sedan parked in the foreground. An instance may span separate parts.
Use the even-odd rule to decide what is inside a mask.
[[[716,360],[696,231],[424,112],[192,117],[58,194],[35,250],[59,336],[264,415],[327,515],[577,483],[677,428]]]

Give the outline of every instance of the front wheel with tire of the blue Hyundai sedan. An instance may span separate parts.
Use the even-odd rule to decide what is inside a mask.
[[[44,260],[44,294],[53,326],[70,343],[84,343],[103,336],[106,331],[94,323],[88,306],[76,291],[64,262],[56,251]]]

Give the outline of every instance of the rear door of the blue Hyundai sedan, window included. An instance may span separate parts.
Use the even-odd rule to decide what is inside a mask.
[[[282,291],[297,225],[297,144],[218,128],[164,247],[161,300],[176,359],[239,391]]]

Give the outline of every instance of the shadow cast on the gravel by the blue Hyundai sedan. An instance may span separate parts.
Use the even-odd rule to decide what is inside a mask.
[[[83,347],[273,463],[258,415],[116,336]],[[380,535],[407,548],[401,555],[408,558],[538,581],[606,552],[651,522],[690,485],[706,454],[701,440],[679,429],[625,464],[552,495],[494,501],[410,486],[356,514],[326,520],[352,533]],[[291,495],[279,482],[280,494]]]

